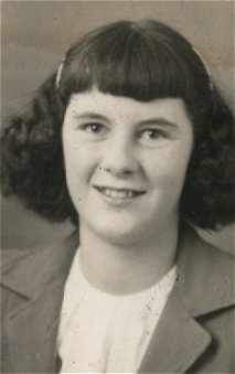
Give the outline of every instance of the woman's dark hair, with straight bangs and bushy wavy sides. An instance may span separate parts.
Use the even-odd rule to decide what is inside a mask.
[[[14,116],[2,141],[2,192],[54,222],[78,224],[65,179],[62,124],[71,95],[96,86],[140,101],[180,97],[194,147],[181,196],[181,218],[204,228],[234,221],[234,117],[192,45],[153,20],[119,21],[83,36]]]

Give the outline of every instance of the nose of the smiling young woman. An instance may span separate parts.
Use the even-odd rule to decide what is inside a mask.
[[[100,169],[116,177],[136,173],[139,162],[135,154],[135,145],[122,138],[109,141],[105,147]]]

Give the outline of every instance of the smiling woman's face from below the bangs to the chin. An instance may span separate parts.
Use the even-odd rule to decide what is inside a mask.
[[[180,98],[142,103],[96,88],[74,94],[63,147],[82,227],[109,242],[133,244],[177,222],[192,143]]]

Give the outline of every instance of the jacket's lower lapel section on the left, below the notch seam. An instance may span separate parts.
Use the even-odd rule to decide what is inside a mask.
[[[10,314],[7,329],[15,372],[56,372],[56,336],[64,281],[64,277],[55,280],[35,300],[24,302]]]

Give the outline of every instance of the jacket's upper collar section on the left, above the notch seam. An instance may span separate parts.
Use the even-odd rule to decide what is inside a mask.
[[[3,249],[1,285],[10,291],[33,297],[56,277],[67,274],[78,246],[76,233],[47,246]]]

